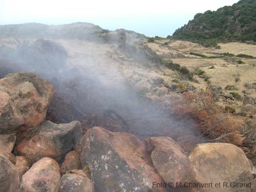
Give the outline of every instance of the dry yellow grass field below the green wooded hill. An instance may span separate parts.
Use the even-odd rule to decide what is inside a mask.
[[[221,86],[223,89],[227,84],[234,85],[239,89],[234,92],[243,95],[242,91],[246,89],[244,83],[256,82],[256,59],[237,58],[237,60],[240,59],[245,62],[244,65],[237,65],[233,57],[230,57],[230,61],[227,62],[222,58],[201,58],[189,55],[189,53],[195,52],[207,56],[218,56],[214,53],[232,53],[234,55],[247,54],[256,57],[256,46],[240,42],[219,45],[221,49],[205,48],[193,42],[176,40],[170,42],[168,46],[163,46],[161,41],[151,43],[149,46],[166,60],[185,66],[190,71],[194,71],[196,68],[205,71],[205,74],[210,77],[211,84]],[[173,54],[173,57],[164,57],[166,53]],[[209,69],[211,66],[214,66],[215,69]],[[241,81],[236,82],[236,77],[239,77]],[[197,75],[195,75],[195,78],[199,81],[199,83],[193,82],[195,87],[202,89],[207,87],[207,82],[203,78],[199,78]],[[247,90],[247,92],[256,97],[256,90]]]

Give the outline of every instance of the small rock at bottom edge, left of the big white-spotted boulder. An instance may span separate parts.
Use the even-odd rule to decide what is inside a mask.
[[[59,192],[93,192],[93,184],[87,177],[65,174],[61,177]]]

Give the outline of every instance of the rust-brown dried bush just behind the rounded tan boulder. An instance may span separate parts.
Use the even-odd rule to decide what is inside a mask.
[[[239,130],[242,123],[236,117],[224,113],[216,105],[210,91],[184,92],[182,100],[175,100],[173,112],[176,118],[192,118],[197,122],[196,128],[212,142],[227,142],[240,146],[244,137]],[[206,140],[207,141],[207,140]]]

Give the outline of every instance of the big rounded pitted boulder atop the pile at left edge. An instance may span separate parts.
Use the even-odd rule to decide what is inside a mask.
[[[32,73],[0,79],[0,134],[42,123],[52,97],[51,84]]]

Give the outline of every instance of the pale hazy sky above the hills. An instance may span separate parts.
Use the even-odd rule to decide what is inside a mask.
[[[0,25],[88,22],[104,29],[124,28],[147,36],[171,35],[196,13],[238,0],[0,0]]]

